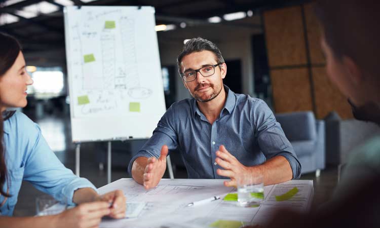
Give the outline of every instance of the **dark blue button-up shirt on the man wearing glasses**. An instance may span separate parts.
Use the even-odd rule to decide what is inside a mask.
[[[189,178],[226,178],[216,174],[221,167],[215,163],[215,152],[223,144],[245,166],[283,156],[292,168],[293,178],[299,178],[301,165],[268,105],[249,95],[235,94],[225,85],[224,88],[226,102],[212,125],[194,98],[173,103],[153,136],[131,159],[128,171],[131,173],[138,157],[160,157],[161,147],[166,144],[169,151],[180,150]]]

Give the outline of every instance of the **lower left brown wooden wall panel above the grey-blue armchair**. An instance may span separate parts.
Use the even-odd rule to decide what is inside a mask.
[[[313,110],[308,68],[271,70],[277,113]]]

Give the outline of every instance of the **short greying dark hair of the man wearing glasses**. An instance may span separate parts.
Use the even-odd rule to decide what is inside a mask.
[[[193,52],[201,52],[201,51],[210,51],[214,53],[215,60],[217,61],[217,63],[218,64],[224,63],[223,56],[221,55],[220,50],[214,43],[206,39],[203,39],[202,37],[197,37],[197,38],[193,38],[187,41],[186,44],[183,46],[183,50],[181,51],[181,53],[179,53],[177,57],[178,72],[180,74],[182,73],[181,61],[184,56],[189,55]]]

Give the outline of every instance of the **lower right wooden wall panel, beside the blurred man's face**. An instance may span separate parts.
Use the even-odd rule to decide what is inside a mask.
[[[317,118],[324,119],[333,110],[342,119],[353,118],[347,97],[341,94],[338,88],[328,79],[325,67],[313,67],[312,71]]]

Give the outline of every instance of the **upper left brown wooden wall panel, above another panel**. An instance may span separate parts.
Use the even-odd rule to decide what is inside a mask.
[[[269,66],[306,64],[301,7],[264,12]]]

